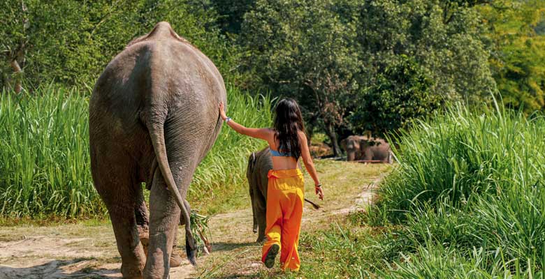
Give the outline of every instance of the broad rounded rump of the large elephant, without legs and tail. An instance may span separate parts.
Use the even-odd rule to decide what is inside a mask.
[[[226,103],[226,90],[219,71],[189,43],[174,39],[131,43],[108,64],[89,100],[92,169],[103,158],[121,156],[139,166],[151,165],[149,126],[154,123],[165,126],[165,140],[172,140],[173,146],[198,142],[200,162],[219,135],[220,101]],[[116,154],[105,153],[110,150],[103,146],[112,145],[118,147]],[[138,176],[143,179],[143,174]]]

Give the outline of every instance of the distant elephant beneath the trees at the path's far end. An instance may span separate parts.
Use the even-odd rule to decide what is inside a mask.
[[[383,139],[367,136],[351,135],[341,141],[347,160],[381,160],[392,163],[390,144]]]

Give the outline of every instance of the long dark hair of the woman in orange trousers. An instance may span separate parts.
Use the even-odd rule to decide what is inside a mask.
[[[275,139],[278,139],[280,152],[291,152],[296,160],[301,156],[298,132],[305,132],[303,117],[297,102],[285,98],[278,102],[275,110]]]

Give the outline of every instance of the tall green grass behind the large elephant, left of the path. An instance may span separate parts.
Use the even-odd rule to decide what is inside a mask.
[[[100,216],[89,165],[89,92],[46,86],[34,96],[3,92],[0,102],[0,215]],[[249,126],[270,125],[270,99],[228,89],[228,112]],[[189,199],[217,199],[240,186],[247,155],[262,142],[223,129],[199,165]],[[214,189],[214,190],[212,190]],[[212,197],[210,194],[212,193]]]

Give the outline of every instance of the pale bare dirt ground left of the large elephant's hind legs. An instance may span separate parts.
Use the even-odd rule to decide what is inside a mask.
[[[120,267],[110,224],[0,228],[0,279],[122,278]],[[185,262],[170,278],[192,271]]]

